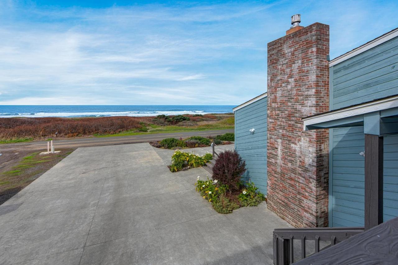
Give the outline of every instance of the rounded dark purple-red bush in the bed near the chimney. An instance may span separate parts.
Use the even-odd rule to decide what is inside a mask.
[[[213,166],[213,179],[228,185],[230,192],[238,189],[238,183],[246,171],[246,162],[236,150],[227,150],[220,153]]]

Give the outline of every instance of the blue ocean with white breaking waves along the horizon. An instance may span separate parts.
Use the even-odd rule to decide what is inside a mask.
[[[0,118],[109,117],[230,113],[232,105],[0,105]]]

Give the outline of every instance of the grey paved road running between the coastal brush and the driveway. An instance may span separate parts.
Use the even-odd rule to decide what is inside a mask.
[[[102,137],[102,138],[81,138],[81,139],[66,139],[66,140],[54,140],[53,144],[55,148],[78,148],[78,147],[90,147],[90,146],[105,146],[115,144],[133,144],[140,142],[152,142],[162,140],[164,138],[185,138],[189,136],[209,136],[224,133],[233,133],[234,129],[228,130],[211,130],[211,131],[193,131],[193,132],[181,132],[181,133],[157,133],[157,134],[140,134],[131,136],[114,136],[114,137]],[[33,141],[29,143],[16,143],[16,144],[1,144],[0,150],[39,150],[46,149],[47,141]]]

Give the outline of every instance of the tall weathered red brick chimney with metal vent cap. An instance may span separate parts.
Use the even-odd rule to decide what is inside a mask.
[[[301,119],[329,110],[329,26],[286,33],[268,43],[267,205],[295,227],[324,227],[329,132],[303,131]]]

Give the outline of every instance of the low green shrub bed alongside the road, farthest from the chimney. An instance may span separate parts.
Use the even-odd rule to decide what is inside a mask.
[[[226,133],[217,136],[191,136],[188,138],[166,138],[157,142],[150,142],[150,144],[157,148],[164,149],[184,149],[184,148],[195,148],[195,147],[206,147],[210,146],[211,143],[220,144],[232,144],[234,141],[234,133]]]

